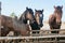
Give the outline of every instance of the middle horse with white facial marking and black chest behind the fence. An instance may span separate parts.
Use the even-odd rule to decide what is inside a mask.
[[[35,22],[30,24],[32,30],[40,30],[40,28],[43,26],[43,10],[35,10]],[[32,32],[35,33],[35,31]],[[37,31],[39,33],[39,31]]]

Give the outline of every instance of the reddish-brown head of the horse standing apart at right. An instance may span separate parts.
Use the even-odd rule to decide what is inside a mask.
[[[54,13],[55,13],[55,18],[56,18],[56,24],[61,24],[61,18],[62,18],[62,13],[63,13],[63,11],[62,11],[62,9],[63,9],[63,6],[54,6],[54,9],[55,9],[55,11],[54,11]]]

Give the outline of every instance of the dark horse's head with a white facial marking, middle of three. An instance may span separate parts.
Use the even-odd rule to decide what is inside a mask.
[[[40,27],[43,26],[43,24],[42,24],[43,14],[42,13],[43,13],[43,10],[35,10],[35,18]]]

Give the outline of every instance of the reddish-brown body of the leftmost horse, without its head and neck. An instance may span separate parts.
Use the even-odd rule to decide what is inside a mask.
[[[28,25],[14,20],[13,18],[4,15],[0,15],[1,37],[5,37],[10,31],[20,32],[22,35],[27,35],[29,31]]]

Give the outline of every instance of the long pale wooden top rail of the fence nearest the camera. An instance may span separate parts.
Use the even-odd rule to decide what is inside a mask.
[[[42,39],[42,38],[65,38],[65,34],[42,35],[42,37],[0,37],[0,40],[15,40],[15,39]]]

